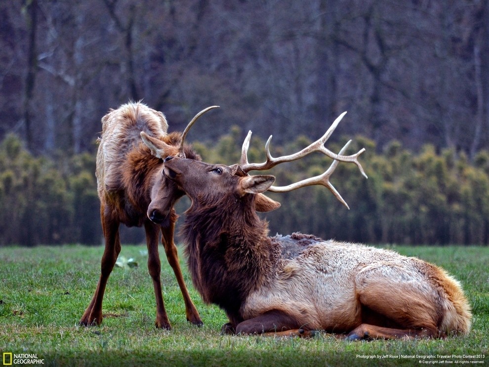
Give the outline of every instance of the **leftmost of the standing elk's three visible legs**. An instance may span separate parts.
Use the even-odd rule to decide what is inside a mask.
[[[102,323],[102,302],[104,299],[105,286],[109,279],[117,257],[121,252],[121,241],[119,238],[119,222],[105,214],[104,207],[101,208],[102,230],[105,237],[105,250],[102,255],[100,278],[93,294],[92,300],[83,313],[80,325],[100,325]]]

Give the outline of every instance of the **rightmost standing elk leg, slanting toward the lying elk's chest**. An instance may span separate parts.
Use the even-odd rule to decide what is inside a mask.
[[[164,246],[164,251],[166,253],[166,259],[173,269],[173,273],[175,274],[178,286],[180,287],[180,291],[182,292],[183,301],[185,302],[185,314],[187,316],[187,321],[191,322],[194,325],[201,326],[204,323],[202,322],[202,319],[199,315],[199,311],[197,311],[197,308],[190,298],[187,286],[185,285],[185,281],[183,280],[180,262],[178,261],[178,251],[175,243],[173,242],[173,232],[175,229],[176,215],[174,210],[171,210],[172,211],[169,214],[170,225],[168,227],[162,227],[162,243]]]

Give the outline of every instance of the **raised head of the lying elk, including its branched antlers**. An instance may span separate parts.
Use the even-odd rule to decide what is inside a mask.
[[[251,139],[250,131],[244,140],[241,160],[238,164],[226,166],[223,164],[196,162],[188,159],[182,159],[180,155],[180,157],[166,158],[164,161],[165,167],[163,172],[170,180],[174,181],[178,187],[187,193],[187,195],[192,199],[193,205],[204,203],[211,205],[213,203],[217,204],[221,196],[229,193],[235,195],[236,197],[243,197],[245,194],[258,194],[256,196],[258,202],[266,200],[273,202],[271,199],[265,197],[262,193],[267,190],[272,192],[287,192],[309,185],[323,185],[328,188],[342,204],[348,207],[348,204],[346,204],[341,195],[329,182],[329,177],[340,161],[355,163],[360,169],[360,172],[367,177],[362,165],[358,161],[358,157],[365,152],[365,148],[361,149],[356,154],[344,156],[343,153],[351,143],[351,140],[346,143],[338,154],[335,154],[324,147],[326,140],[332,134],[345,114],[346,112],[341,114],[319,140],[310,144],[300,152],[288,156],[278,158],[272,157],[270,154],[270,142],[272,136],[270,136],[265,145],[267,156],[266,162],[248,163],[247,151],[249,141]],[[274,176],[248,175],[249,171],[268,170],[279,163],[295,161],[311,154],[312,152],[321,152],[333,159],[333,162],[329,168],[319,176],[308,178],[288,186],[277,187],[272,186],[273,182],[275,181]]]

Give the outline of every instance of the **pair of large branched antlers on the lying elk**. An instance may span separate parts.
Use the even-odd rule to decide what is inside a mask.
[[[240,169],[243,171],[243,173],[247,173],[252,170],[267,170],[272,167],[275,167],[279,163],[284,163],[284,162],[291,162],[298,160],[300,158],[303,158],[312,152],[321,152],[328,156],[329,158],[332,158],[334,161],[331,163],[329,168],[324,172],[323,174],[319,176],[315,176],[312,178],[307,178],[305,180],[293,183],[288,186],[271,186],[268,191],[276,192],[276,193],[283,193],[283,192],[288,192],[292,190],[296,190],[300,187],[304,186],[310,186],[310,185],[323,185],[333,193],[333,195],[338,199],[341,203],[343,203],[347,208],[350,208],[348,204],[343,200],[341,195],[336,191],[336,189],[333,187],[333,185],[329,182],[329,177],[331,174],[334,172],[336,166],[338,165],[339,161],[341,162],[352,162],[355,163],[358,168],[360,169],[360,172],[367,178],[367,175],[365,174],[365,171],[358,162],[358,157],[365,152],[365,148],[362,148],[358,153],[353,154],[351,156],[343,156],[343,153],[346,151],[346,148],[351,143],[351,140],[345,144],[345,146],[339,151],[338,154],[335,154],[331,152],[329,149],[326,149],[324,144],[326,143],[326,140],[331,136],[333,133],[334,129],[338,125],[338,123],[341,121],[343,116],[345,116],[346,112],[343,112],[332,124],[331,126],[327,129],[326,133],[317,141],[314,143],[310,144],[308,147],[302,149],[300,152],[288,155],[288,156],[283,156],[283,157],[278,157],[278,158],[273,158],[272,155],[270,154],[270,141],[272,140],[272,136],[270,136],[267,140],[267,143],[265,144],[265,152],[267,155],[267,160],[264,163],[248,163],[248,158],[247,158],[247,151],[249,147],[249,141],[251,139],[251,131],[248,132],[248,135],[244,139],[243,143],[243,148],[241,151],[241,161],[240,161]]]

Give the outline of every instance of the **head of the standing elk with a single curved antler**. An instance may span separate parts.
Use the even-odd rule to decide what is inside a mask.
[[[151,154],[163,160],[166,157],[178,156],[181,158],[189,158],[190,160],[200,160],[192,148],[184,145],[185,136],[204,113],[217,108],[219,106],[211,106],[199,112],[188,123],[182,134],[169,134],[162,139],[157,139],[141,131],[141,139],[144,144],[150,149]],[[166,138],[166,139],[165,139]],[[163,170],[157,170],[153,177],[153,186],[151,188],[151,203],[148,206],[147,215],[155,223],[161,224],[163,227],[168,226],[170,221],[170,213],[173,205],[185,195],[185,192],[172,180],[169,180],[163,173]]]

